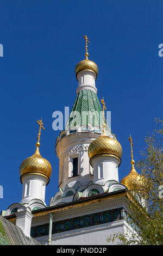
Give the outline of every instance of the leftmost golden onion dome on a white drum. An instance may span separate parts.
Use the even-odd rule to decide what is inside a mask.
[[[39,142],[37,142],[39,143]],[[51,164],[44,159],[39,152],[39,144],[36,143],[36,150],[34,155],[25,159],[20,166],[20,179],[25,175],[36,174],[47,178],[48,182],[52,174]]]

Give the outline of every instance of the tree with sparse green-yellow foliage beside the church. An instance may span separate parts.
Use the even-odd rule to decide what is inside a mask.
[[[146,180],[145,190],[141,191],[146,206],[142,207],[133,200],[129,207],[130,215],[139,224],[139,236],[127,231],[108,236],[108,242],[115,242],[116,239],[119,245],[163,245],[163,121],[155,119],[155,125],[152,134],[148,133],[145,138],[146,148],[141,152],[142,159],[136,164]]]

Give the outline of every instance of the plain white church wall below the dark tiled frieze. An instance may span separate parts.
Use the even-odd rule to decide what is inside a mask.
[[[114,243],[108,243],[107,237],[119,232],[123,233],[124,230],[129,230],[130,233],[134,232],[125,220],[104,223],[80,230],[70,230],[60,234],[52,234],[52,245],[116,245],[117,239]],[[44,245],[48,243],[48,235],[35,239]]]

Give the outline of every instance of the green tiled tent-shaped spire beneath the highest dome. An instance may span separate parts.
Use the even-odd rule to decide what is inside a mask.
[[[80,114],[80,118],[77,118],[76,112]],[[69,130],[72,126],[89,125],[101,126],[103,124],[103,110],[99,103],[98,97],[92,90],[82,90],[78,93],[70,117],[67,121],[65,130]],[[109,129],[107,125],[107,129]]]

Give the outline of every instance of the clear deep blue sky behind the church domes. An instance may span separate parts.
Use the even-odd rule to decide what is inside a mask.
[[[137,161],[154,118],[162,118],[162,10],[161,0],[0,2],[0,210],[21,200],[19,167],[35,151],[36,119],[46,127],[40,153],[52,164],[47,205],[58,191],[59,131],[52,129],[52,113],[71,108],[76,98],[74,68],[84,58],[84,34],[91,42],[89,57],[99,68],[97,95],[104,96],[123,149],[120,180],[129,173],[129,135]]]

